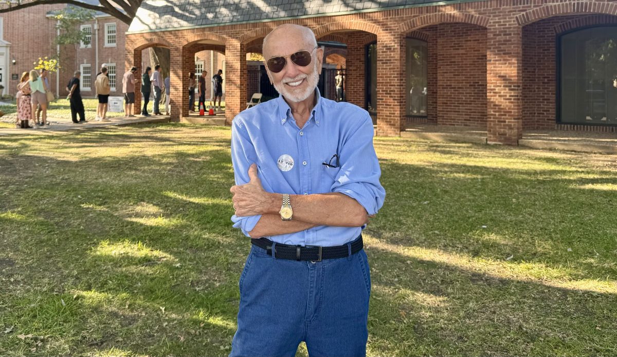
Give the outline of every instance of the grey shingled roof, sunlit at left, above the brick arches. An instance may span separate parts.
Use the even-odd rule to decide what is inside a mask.
[[[474,0],[144,0],[128,33],[343,15],[467,1]]]

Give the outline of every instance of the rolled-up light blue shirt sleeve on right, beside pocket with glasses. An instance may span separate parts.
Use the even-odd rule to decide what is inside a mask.
[[[331,187],[357,200],[369,215],[383,206],[386,190],[379,183],[381,169],[373,147],[373,122],[366,113],[364,120],[340,147],[341,168]]]

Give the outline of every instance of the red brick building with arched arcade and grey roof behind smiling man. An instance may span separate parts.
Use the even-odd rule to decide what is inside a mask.
[[[347,101],[376,115],[379,135],[428,122],[516,144],[531,129],[617,124],[615,1],[214,3],[147,0],[128,30],[127,63],[141,62],[147,47],[171,49],[175,120],[188,114],[194,54],[225,54],[230,123],[254,83],[246,54],[260,52],[272,28],[298,23],[320,42],[345,45]]]

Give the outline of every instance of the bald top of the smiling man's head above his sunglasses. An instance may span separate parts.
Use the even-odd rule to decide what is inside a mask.
[[[280,52],[286,51],[289,45],[299,47],[294,51],[300,49],[310,51],[317,47],[317,39],[308,27],[284,23],[268,33],[263,39],[263,58],[269,59],[275,55],[289,54],[291,52]]]

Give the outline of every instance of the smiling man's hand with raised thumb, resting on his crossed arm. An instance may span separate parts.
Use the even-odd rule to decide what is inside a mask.
[[[249,178],[249,183],[232,186],[230,189],[236,216],[263,215],[270,211],[272,194],[263,190],[262,181],[257,176],[257,165],[252,164],[249,168]]]

